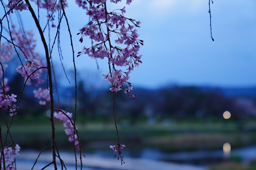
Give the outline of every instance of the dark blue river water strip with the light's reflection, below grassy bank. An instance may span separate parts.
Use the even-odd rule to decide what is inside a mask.
[[[110,150],[91,150],[90,153],[109,157],[113,155]],[[229,158],[239,158],[243,162],[249,162],[256,159],[256,146],[247,146],[230,150],[229,154],[225,154],[223,149],[218,150],[195,150],[195,151],[180,151],[180,152],[165,152],[160,149],[145,148],[139,152],[134,151],[123,152],[124,157],[143,158],[170,162],[180,162],[196,165],[207,165],[218,163]]]

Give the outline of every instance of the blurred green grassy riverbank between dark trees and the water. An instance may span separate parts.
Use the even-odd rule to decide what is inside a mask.
[[[2,123],[2,122],[1,122]],[[251,122],[253,123],[253,122]],[[229,142],[232,148],[256,144],[255,124],[245,126],[248,130],[237,128],[235,123],[173,123],[163,125],[137,124],[134,126],[118,124],[119,137],[122,143],[141,148],[150,147],[162,149],[165,152],[179,150],[219,149],[223,143]],[[84,149],[107,147],[116,143],[116,130],[111,123],[77,123],[79,136]],[[65,149],[70,146],[64,132],[62,122],[56,120],[56,140],[59,148]],[[2,133],[5,134],[2,126]],[[50,144],[50,122],[40,124],[14,124],[11,126],[15,141],[23,148],[41,148]],[[49,137],[49,138],[48,138]],[[96,145],[98,142],[104,144]],[[37,143],[33,146],[33,143]],[[48,143],[48,144],[47,144]],[[129,147],[129,146],[128,146]]]

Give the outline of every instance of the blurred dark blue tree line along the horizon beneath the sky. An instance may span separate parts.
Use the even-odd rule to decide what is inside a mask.
[[[15,81],[9,82],[11,90],[17,82],[23,83],[23,78],[13,78]],[[15,84],[14,84],[15,83]],[[60,85],[59,85],[60,86]],[[58,87],[62,91],[59,96],[60,102],[65,102],[65,110],[69,109],[69,102],[74,100],[74,92],[69,87]],[[31,94],[33,89],[27,87],[24,93]],[[63,93],[63,91],[65,93]],[[256,96],[226,96],[220,88],[204,89],[201,87],[181,87],[171,86],[156,90],[136,88],[133,90],[137,95],[135,100],[131,100],[125,93],[116,93],[116,112],[119,116],[125,116],[136,122],[139,117],[168,117],[174,119],[201,118],[201,117],[222,117],[224,111],[230,111],[232,117],[237,117],[239,112],[245,116],[256,116]],[[17,93],[17,92],[13,92]],[[25,97],[25,96],[24,96]],[[26,108],[30,108],[30,114],[41,114],[47,110],[46,106],[39,106],[33,96],[26,95],[26,100],[21,103]],[[87,117],[103,116],[112,114],[113,101],[109,90],[85,88],[84,81],[78,81],[78,115]],[[55,100],[57,96],[55,94]],[[29,102],[26,102],[29,101]],[[33,102],[34,101],[34,102]],[[71,103],[71,102],[70,102]],[[35,108],[35,107],[40,108]],[[39,109],[39,111],[38,111]],[[72,109],[72,108],[70,108]],[[20,112],[21,116],[26,113]],[[109,118],[108,118],[109,119]]]

